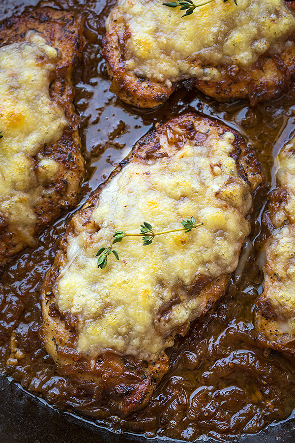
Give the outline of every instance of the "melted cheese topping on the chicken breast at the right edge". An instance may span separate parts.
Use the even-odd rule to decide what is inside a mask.
[[[295,334],[295,139],[280,152],[276,178],[288,199],[271,214],[276,230],[266,245],[265,291],[278,316],[279,333]],[[278,332],[278,331],[277,331]]]

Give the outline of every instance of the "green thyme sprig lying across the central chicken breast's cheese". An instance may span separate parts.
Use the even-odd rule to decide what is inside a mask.
[[[192,229],[194,229],[196,227],[202,226],[202,224],[204,224],[204,223],[197,223],[196,220],[194,219],[194,217],[191,217],[189,220],[182,220],[181,224],[183,226],[182,228],[169,229],[169,230],[161,231],[161,232],[154,232],[152,229],[152,225],[150,223],[148,223],[147,221],[144,221],[144,223],[140,225],[141,226],[140,232],[138,232],[138,233],[129,233],[129,232],[123,232],[123,231],[115,232],[115,234],[113,236],[114,238],[113,238],[110,246],[108,246],[107,248],[102,246],[97,251],[97,253],[96,253],[96,257],[98,257],[97,258],[97,268],[103,269],[106,267],[106,265],[108,263],[108,255],[111,255],[111,253],[113,253],[115,255],[117,260],[119,259],[119,254],[117,251],[115,251],[113,249],[113,245],[115,245],[116,243],[120,243],[124,237],[142,237],[143,246],[148,246],[152,243],[152,241],[156,235],[169,234],[171,232],[179,232],[179,231],[184,231],[186,233],[186,232],[190,232]]]

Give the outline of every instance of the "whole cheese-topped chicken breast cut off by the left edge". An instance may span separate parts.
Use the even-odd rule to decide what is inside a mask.
[[[71,73],[83,19],[40,8],[0,25],[0,268],[77,202],[84,160]]]

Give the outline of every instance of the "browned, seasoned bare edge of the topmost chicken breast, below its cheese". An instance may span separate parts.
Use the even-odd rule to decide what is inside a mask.
[[[295,10],[292,1],[286,4]],[[102,55],[112,79],[111,91],[118,94],[125,103],[140,108],[153,108],[164,103],[182,86],[187,89],[197,88],[220,102],[248,98],[254,105],[282,95],[290,87],[295,75],[295,50],[286,49],[277,55],[267,51],[247,71],[236,65],[218,65],[216,68],[221,74],[218,82],[191,78],[174,82],[172,87],[168,87],[165,83],[139,78],[127,72],[124,54],[129,37],[128,24],[112,21],[103,40]],[[291,39],[294,38],[292,36]]]

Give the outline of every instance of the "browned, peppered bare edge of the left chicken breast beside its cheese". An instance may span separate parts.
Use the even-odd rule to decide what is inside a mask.
[[[44,185],[41,202],[34,207],[37,216],[34,234],[51,223],[63,209],[74,206],[84,178],[84,158],[78,133],[79,120],[73,108],[74,89],[71,83],[73,66],[84,46],[84,19],[69,12],[39,8],[19,17],[12,17],[0,25],[0,47],[24,41],[26,32],[33,30],[59,51],[56,70],[52,73],[50,97],[64,110],[68,125],[62,137],[51,145],[40,147],[44,154],[59,163],[59,173],[53,182]],[[45,195],[46,194],[46,195]],[[21,233],[8,226],[0,217],[0,268],[28,245]]]

